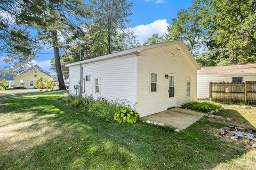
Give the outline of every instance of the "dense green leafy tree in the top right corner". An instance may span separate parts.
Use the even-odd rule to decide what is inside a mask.
[[[212,5],[211,38],[230,55],[231,63],[251,56],[256,59],[256,1],[215,0]]]

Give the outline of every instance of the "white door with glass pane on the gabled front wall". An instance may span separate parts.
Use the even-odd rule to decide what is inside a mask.
[[[168,74],[169,81],[168,81],[168,95],[167,95],[167,108],[175,107],[175,75]]]

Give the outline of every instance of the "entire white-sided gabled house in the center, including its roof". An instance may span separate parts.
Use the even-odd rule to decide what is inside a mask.
[[[94,98],[126,99],[136,104],[140,116],[196,100],[200,66],[182,41],[134,47],[66,66],[70,94],[81,90]]]

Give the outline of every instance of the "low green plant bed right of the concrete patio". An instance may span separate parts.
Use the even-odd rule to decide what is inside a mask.
[[[213,101],[193,101],[186,103],[181,108],[191,109],[193,111],[208,113],[215,109],[220,109],[221,104]]]

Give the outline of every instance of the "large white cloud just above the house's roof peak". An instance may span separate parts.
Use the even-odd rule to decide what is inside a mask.
[[[158,33],[159,36],[162,36],[166,32],[169,23],[166,19],[156,20],[152,23],[146,25],[138,25],[137,27],[131,28],[131,31],[137,36],[139,43],[144,43],[149,37],[154,33]]]

